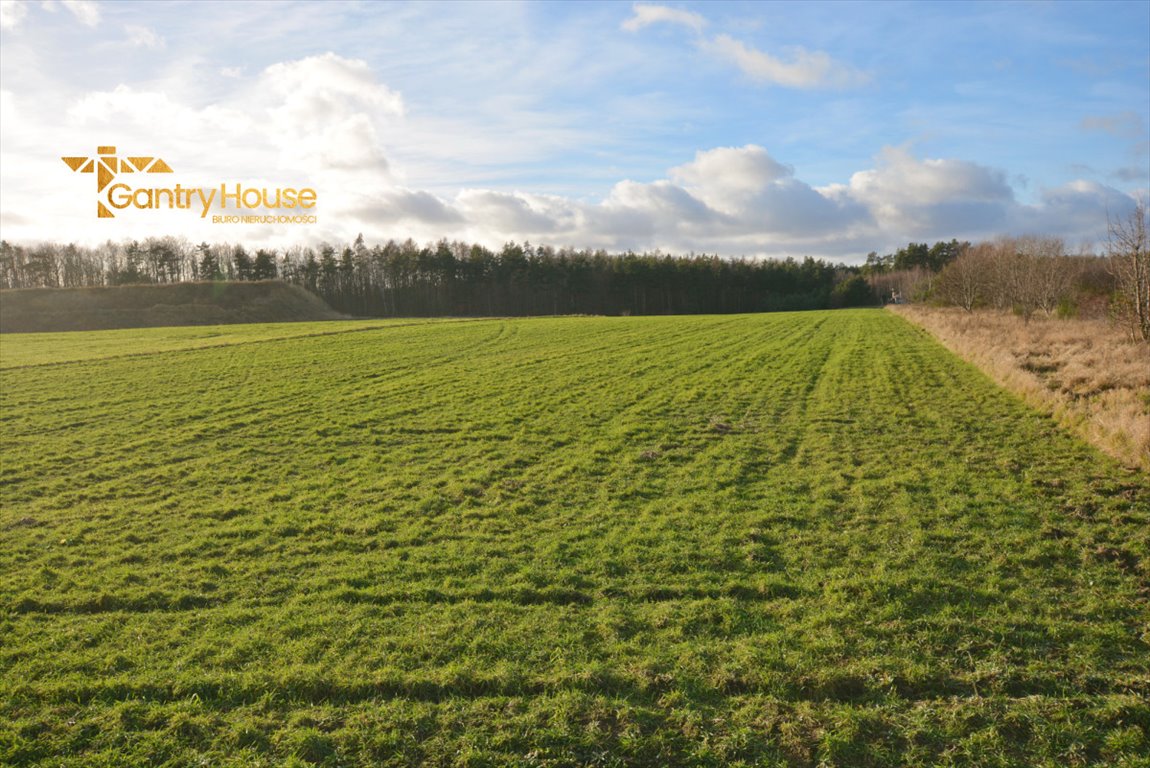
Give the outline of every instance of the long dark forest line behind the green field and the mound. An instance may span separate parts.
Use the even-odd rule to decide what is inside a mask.
[[[360,316],[721,314],[865,306],[858,268],[802,261],[615,253],[508,243],[408,239],[254,253],[243,245],[144,241],[0,243],[0,287],[83,287],[283,279]]]

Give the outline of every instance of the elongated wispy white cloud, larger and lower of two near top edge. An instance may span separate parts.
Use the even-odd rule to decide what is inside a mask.
[[[865,72],[835,61],[822,51],[799,46],[788,49],[789,61],[749,47],[729,34],[716,34],[703,48],[735,64],[752,79],[791,89],[845,89],[869,80]]]

